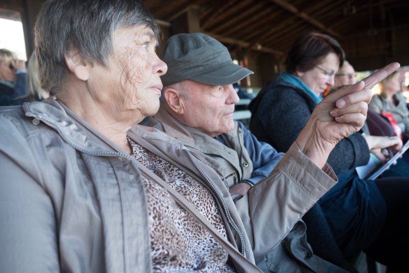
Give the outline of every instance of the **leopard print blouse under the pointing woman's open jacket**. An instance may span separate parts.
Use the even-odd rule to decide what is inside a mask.
[[[132,156],[191,202],[226,238],[216,202],[190,175],[128,138]],[[144,178],[155,272],[235,272],[225,249],[162,186]]]

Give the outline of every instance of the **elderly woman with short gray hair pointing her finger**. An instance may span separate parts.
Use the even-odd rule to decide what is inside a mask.
[[[142,1],[44,3],[35,47],[42,87],[55,99],[0,109],[2,270],[256,272],[254,257],[336,183],[326,158],[365,121],[362,84],[317,107],[297,144],[236,208],[212,168],[137,125],[159,107],[167,66],[157,36]],[[263,236],[271,222],[278,229]]]

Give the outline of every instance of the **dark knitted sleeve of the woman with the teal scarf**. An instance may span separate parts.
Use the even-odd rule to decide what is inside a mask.
[[[295,88],[276,86],[264,96],[252,122],[259,124],[252,132],[278,151],[286,152],[311,117],[315,103]],[[256,127],[254,124],[254,127]],[[343,173],[369,161],[368,145],[359,133],[340,141],[328,158],[335,173]]]

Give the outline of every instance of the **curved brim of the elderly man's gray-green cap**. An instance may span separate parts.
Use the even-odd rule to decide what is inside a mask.
[[[222,64],[211,71],[192,76],[189,79],[209,85],[228,85],[236,83],[253,73],[251,70],[230,62]]]

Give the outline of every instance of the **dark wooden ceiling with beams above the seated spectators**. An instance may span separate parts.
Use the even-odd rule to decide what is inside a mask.
[[[356,70],[409,64],[408,0],[146,0],[162,27],[194,10],[199,31],[229,50],[284,58],[307,31],[335,37]]]

